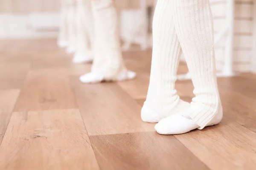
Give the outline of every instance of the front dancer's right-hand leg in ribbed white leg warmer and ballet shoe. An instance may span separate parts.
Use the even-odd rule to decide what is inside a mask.
[[[167,8],[173,12],[175,30],[195,87],[195,98],[186,111],[162,119],[155,126],[160,134],[180,134],[196,128],[203,129],[218,124],[222,119],[209,0],[171,2]]]

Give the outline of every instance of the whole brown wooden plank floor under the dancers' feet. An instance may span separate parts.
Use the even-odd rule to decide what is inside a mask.
[[[256,169],[255,75],[218,79],[220,125],[161,136],[140,119],[151,51],[124,56],[136,79],[86,85],[91,65],[55,40],[0,42],[0,170]],[[176,87],[191,100],[191,81]]]

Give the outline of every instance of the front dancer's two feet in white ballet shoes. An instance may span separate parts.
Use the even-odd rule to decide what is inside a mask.
[[[201,106],[198,110],[203,110],[207,106]],[[163,135],[175,135],[187,133],[191,130],[202,129],[199,127],[190,116],[186,113],[191,110],[191,106],[188,102],[184,102],[181,99],[177,99],[173,105],[163,106],[161,111],[154,111],[150,108],[147,102],[144,103],[141,110],[141,119],[143,122],[157,123],[155,130],[159,134]],[[214,113],[215,116],[207,123],[206,126],[217,125],[221,122],[223,112],[221,104]]]

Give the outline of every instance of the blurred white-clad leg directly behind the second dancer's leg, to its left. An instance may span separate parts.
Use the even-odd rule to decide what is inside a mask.
[[[90,0],[76,1],[77,48],[73,63],[93,60],[94,23]]]

